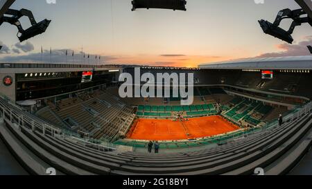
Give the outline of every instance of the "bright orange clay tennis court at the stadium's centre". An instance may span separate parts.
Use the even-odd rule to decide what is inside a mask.
[[[192,118],[189,121],[139,119],[127,138],[132,140],[186,140],[236,131],[236,126],[220,116]],[[189,135],[187,134],[189,133]]]

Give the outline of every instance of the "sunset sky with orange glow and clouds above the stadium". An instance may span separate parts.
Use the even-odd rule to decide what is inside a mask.
[[[300,8],[293,0],[188,0],[187,11],[136,10],[131,0],[17,0],[12,8],[51,19],[46,33],[18,43],[17,28],[0,26],[0,61],[64,61],[64,51],[101,55],[106,63],[195,67],[236,58],[309,55],[312,28],[295,29],[293,45],[265,35],[259,19],[273,22],[278,11]],[[29,26],[27,19],[22,24]],[[291,22],[284,22],[287,28]],[[25,26],[24,26],[25,27]],[[93,60],[93,59],[92,59]]]

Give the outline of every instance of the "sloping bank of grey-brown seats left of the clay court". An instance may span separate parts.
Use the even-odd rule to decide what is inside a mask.
[[[73,131],[89,133],[96,139],[112,140],[118,134],[125,135],[135,119],[133,108],[103,91],[83,94],[78,99],[63,99],[58,106],[60,109],[46,107],[37,116]]]

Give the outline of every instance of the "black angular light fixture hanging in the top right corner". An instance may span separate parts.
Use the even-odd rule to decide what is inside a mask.
[[[290,10],[289,8],[286,8],[279,11],[274,23],[261,19],[259,20],[259,24],[264,33],[272,35],[273,37],[279,38],[280,40],[288,43],[293,43],[293,37],[291,34],[293,34],[296,26],[301,26],[303,23],[309,23],[312,26],[311,17],[301,17],[302,15],[306,15],[306,12],[304,12],[302,8],[297,10]],[[293,23],[288,31],[279,27],[279,24],[281,24],[283,19],[293,19]]]

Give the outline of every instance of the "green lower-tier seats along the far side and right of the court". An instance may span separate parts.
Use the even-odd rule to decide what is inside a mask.
[[[191,106],[138,106],[137,116],[139,117],[172,117],[174,113],[182,113],[184,118],[202,117],[218,114],[214,104],[202,104]],[[264,106],[257,101],[250,101],[241,97],[234,97],[227,104],[221,104],[220,110],[223,111],[229,121],[241,125],[245,122],[248,125],[258,126],[263,123],[263,118],[268,116],[274,108]],[[281,114],[285,111],[281,111]],[[276,120],[279,114],[270,118]]]

